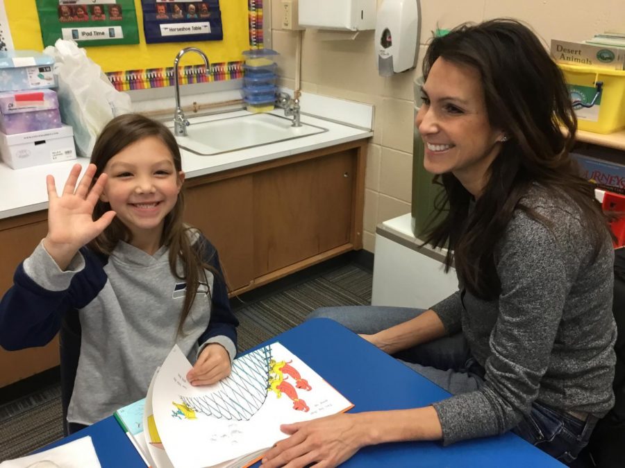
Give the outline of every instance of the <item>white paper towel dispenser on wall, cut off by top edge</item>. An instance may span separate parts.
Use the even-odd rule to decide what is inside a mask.
[[[376,0],[299,0],[299,26],[363,31],[376,28]]]

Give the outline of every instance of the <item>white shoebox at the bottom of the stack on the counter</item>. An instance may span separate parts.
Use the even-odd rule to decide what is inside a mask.
[[[14,169],[76,159],[74,130],[69,125],[38,132],[0,132],[2,160]]]

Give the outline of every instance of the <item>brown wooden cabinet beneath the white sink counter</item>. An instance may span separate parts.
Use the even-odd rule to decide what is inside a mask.
[[[362,248],[366,148],[354,141],[185,182],[185,220],[219,250],[231,294]],[[0,220],[0,293],[46,235],[46,216]],[[0,387],[56,365],[58,338],[0,348]]]

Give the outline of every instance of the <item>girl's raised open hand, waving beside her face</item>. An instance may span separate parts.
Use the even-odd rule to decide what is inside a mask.
[[[49,208],[44,248],[61,270],[67,268],[79,248],[103,232],[115,217],[115,211],[107,211],[98,220],[92,219],[93,209],[106,184],[106,174],[101,174],[90,187],[95,171],[96,166],[89,164],[78,182],[81,165],[75,164],[60,196],[56,193],[54,177],[46,178]]]

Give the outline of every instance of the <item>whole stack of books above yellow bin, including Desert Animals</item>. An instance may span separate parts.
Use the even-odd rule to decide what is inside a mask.
[[[553,39],[551,55],[559,63],[625,70],[625,33],[606,31],[582,42]]]

